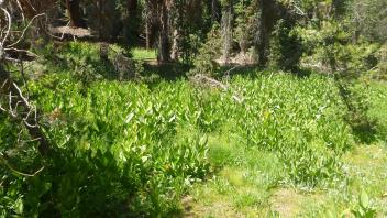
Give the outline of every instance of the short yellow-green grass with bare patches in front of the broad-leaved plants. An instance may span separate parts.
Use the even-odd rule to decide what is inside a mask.
[[[378,216],[387,216],[387,84],[372,84],[372,94],[369,116],[377,121],[380,137],[358,142],[344,156],[345,181],[327,189],[273,184],[281,168],[275,155],[248,149],[219,132],[210,137],[209,154],[211,163],[220,167],[183,200],[184,216],[327,217],[333,211],[351,217],[351,210],[358,209],[362,190]]]

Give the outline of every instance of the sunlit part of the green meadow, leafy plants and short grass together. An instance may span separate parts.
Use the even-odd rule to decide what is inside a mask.
[[[119,171],[148,163],[140,175],[129,174],[137,181],[131,192],[140,196],[131,212],[176,214],[188,193],[187,216],[324,217],[357,209],[362,189],[372,198],[369,209],[385,212],[383,148],[374,145],[367,155],[354,146],[332,79],[263,73],[230,85],[223,92],[186,80],[152,87],[97,81],[82,94],[68,80],[60,94],[36,91],[47,113],[58,108],[71,120],[74,129],[52,130],[58,141],[73,135],[66,146],[110,151]],[[371,157],[378,153],[379,161]]]

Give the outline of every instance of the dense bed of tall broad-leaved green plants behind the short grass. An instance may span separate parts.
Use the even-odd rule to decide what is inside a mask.
[[[49,207],[69,216],[170,212],[186,188],[210,172],[206,134],[224,127],[242,144],[279,157],[285,171],[278,184],[329,186],[343,175],[341,155],[352,144],[333,79],[318,75],[237,77],[226,92],[186,80],[102,80],[85,94],[65,73],[44,76],[30,89],[58,156],[32,178],[4,168],[5,214],[32,216]],[[16,135],[9,135],[3,152],[14,143]],[[15,148],[25,146],[31,143]],[[10,154],[25,171],[45,162],[33,150],[27,155]]]

